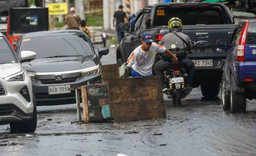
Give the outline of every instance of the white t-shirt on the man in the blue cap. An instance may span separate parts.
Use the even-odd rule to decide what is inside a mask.
[[[152,66],[156,57],[156,52],[164,53],[166,48],[152,42],[149,50],[145,52],[141,49],[141,46],[142,45],[133,50],[128,58],[127,67],[132,67],[132,69],[140,75],[149,76],[152,74]]]

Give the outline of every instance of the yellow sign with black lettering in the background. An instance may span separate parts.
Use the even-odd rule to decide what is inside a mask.
[[[48,3],[49,15],[67,14],[67,3]]]

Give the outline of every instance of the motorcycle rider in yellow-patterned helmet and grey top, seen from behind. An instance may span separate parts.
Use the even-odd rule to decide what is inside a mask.
[[[182,64],[185,68],[188,76],[185,78],[185,84],[187,86],[191,86],[193,75],[195,71],[195,65],[194,63],[187,58],[187,54],[191,53],[192,51],[192,45],[190,38],[181,33],[182,30],[182,21],[181,19],[177,17],[173,17],[168,21],[168,28],[170,33],[164,35],[164,37],[160,41],[160,45],[164,45],[166,48],[169,49],[176,49],[177,51],[184,50],[184,54],[182,55],[182,59],[179,59],[179,64]],[[182,44],[181,44],[182,43]],[[168,47],[169,45],[169,47]],[[172,51],[174,53],[174,50]],[[175,53],[174,53],[175,54]],[[161,55],[162,60],[158,61],[154,65],[154,72],[157,76],[161,76],[162,79],[162,88],[163,92],[166,92],[168,89],[168,85],[165,81],[164,72],[168,69],[170,64],[173,64],[172,61],[170,61],[169,56]]]

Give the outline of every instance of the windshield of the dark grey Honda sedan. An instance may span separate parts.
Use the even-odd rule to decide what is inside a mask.
[[[84,35],[51,35],[24,38],[20,43],[19,58],[21,51],[25,50],[36,52],[36,59],[95,54],[90,42]]]

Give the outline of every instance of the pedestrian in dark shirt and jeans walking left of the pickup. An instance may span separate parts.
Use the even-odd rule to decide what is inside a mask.
[[[120,23],[128,22],[128,20],[127,20],[126,13],[123,12],[123,5],[119,5],[118,8],[119,8],[118,11],[116,11],[113,16],[113,25],[115,25],[115,21],[116,21],[116,35],[117,35],[118,42],[120,43],[121,40],[124,38],[124,33],[119,31],[117,27]]]

